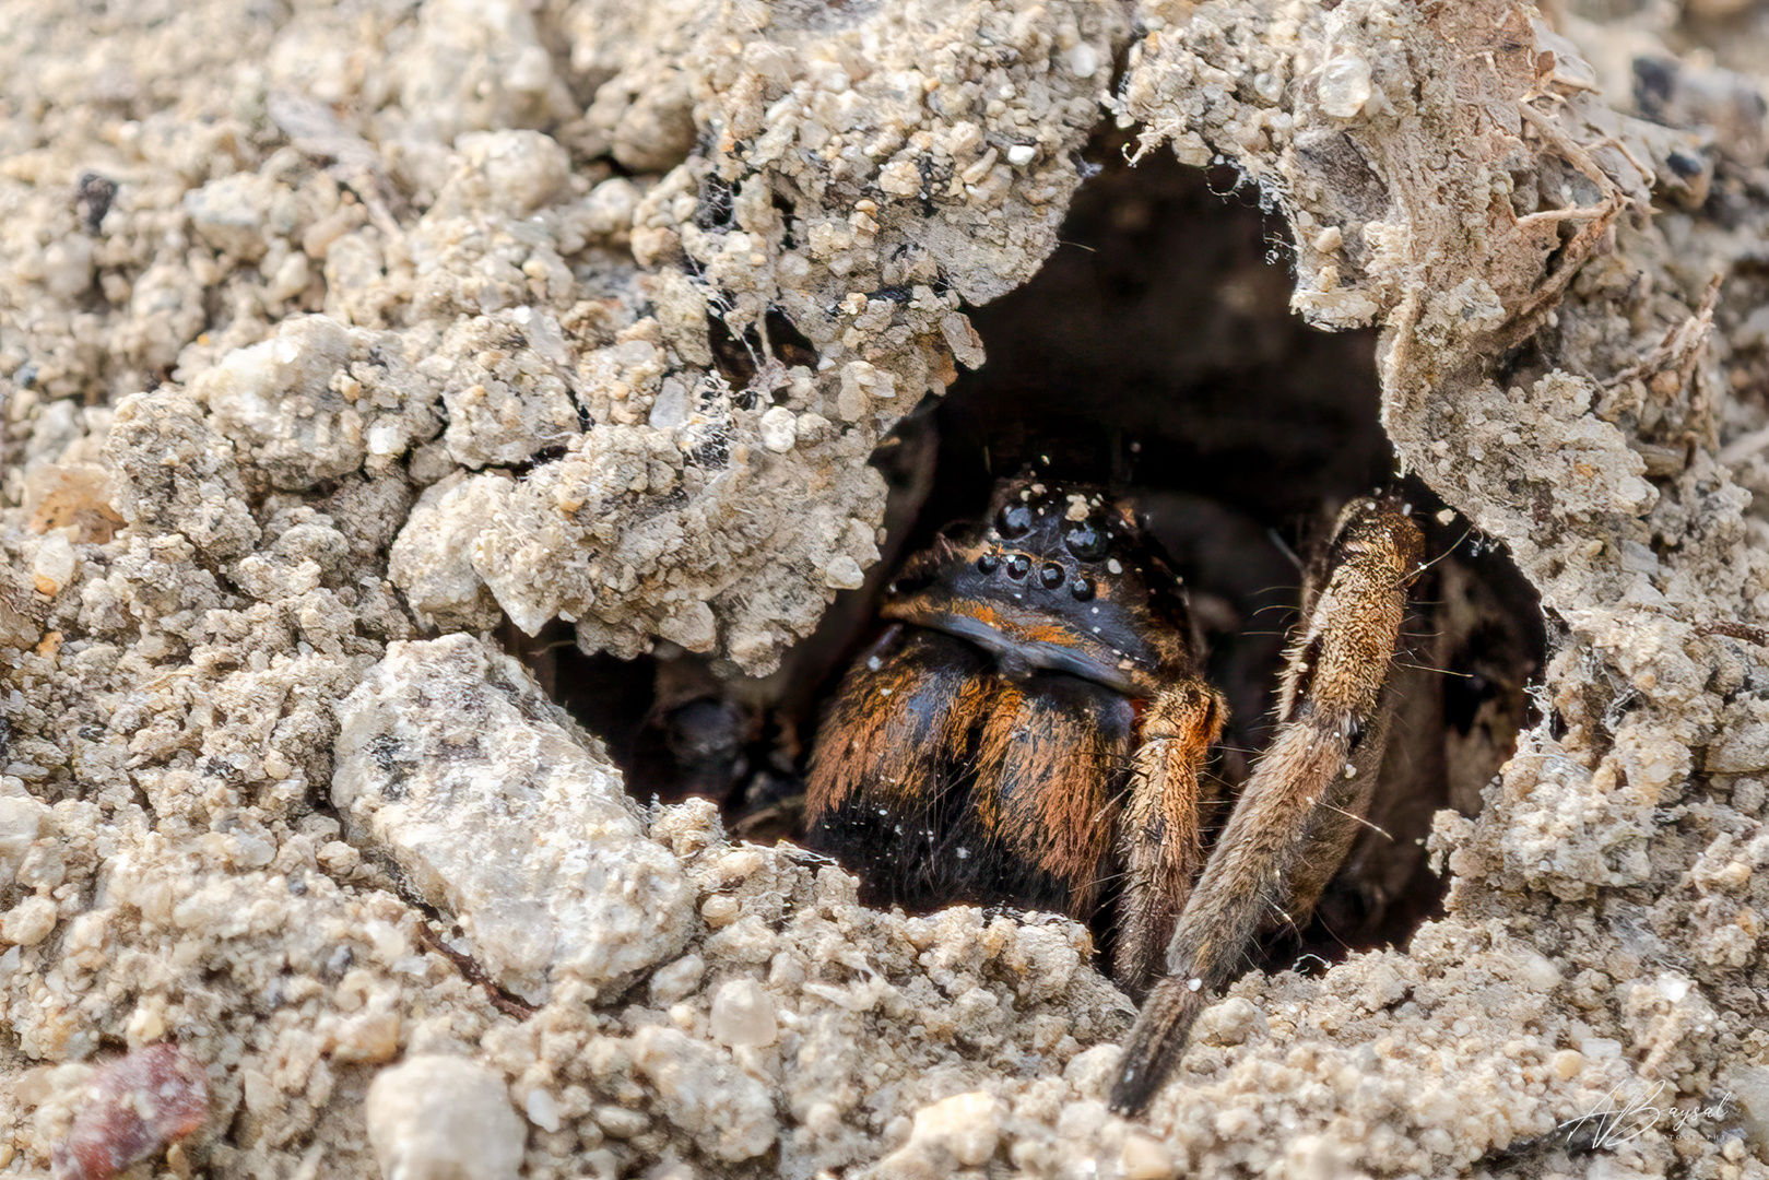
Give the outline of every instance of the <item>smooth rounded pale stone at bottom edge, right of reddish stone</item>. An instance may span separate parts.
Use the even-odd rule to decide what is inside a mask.
[[[515,1180],[527,1130],[504,1079],[456,1056],[416,1056],[368,1088],[368,1141],[387,1180]]]

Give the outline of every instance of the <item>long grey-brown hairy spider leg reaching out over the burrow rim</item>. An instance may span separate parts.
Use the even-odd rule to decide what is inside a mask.
[[[1419,527],[1390,499],[1355,501],[1339,515],[1316,566],[1325,580],[1311,571],[1304,596],[1277,734],[1180,915],[1168,977],[1125,1042],[1113,1109],[1148,1106],[1261,922],[1300,918],[1344,858],[1382,761],[1383,688],[1422,550]]]

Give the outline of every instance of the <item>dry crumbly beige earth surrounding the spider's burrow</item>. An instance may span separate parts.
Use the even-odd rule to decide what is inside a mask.
[[[0,0],[0,1173],[177,1042],[175,1175],[1769,1175],[1769,37],[1688,9]],[[640,810],[485,637],[775,667],[1114,117],[1553,640],[1449,915],[1146,1123],[1081,927]]]

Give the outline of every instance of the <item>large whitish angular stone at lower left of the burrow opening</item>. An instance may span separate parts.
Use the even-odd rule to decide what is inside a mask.
[[[545,1003],[555,973],[598,984],[681,954],[679,862],[518,663],[469,635],[394,642],[338,720],[350,842],[458,918],[499,985]]]

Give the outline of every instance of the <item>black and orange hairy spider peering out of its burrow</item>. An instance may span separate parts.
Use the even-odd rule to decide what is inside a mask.
[[[1180,579],[1129,502],[1003,479],[886,591],[817,734],[808,840],[876,900],[1113,908],[1111,971],[1141,1014],[1111,1104],[1139,1113],[1252,941],[1302,922],[1352,849],[1422,552],[1392,495],[1339,513],[1304,570],[1274,738],[1206,849],[1228,708]]]

